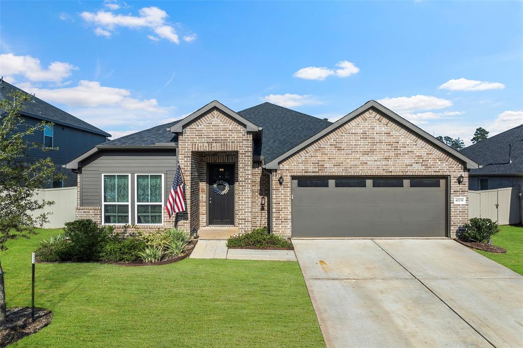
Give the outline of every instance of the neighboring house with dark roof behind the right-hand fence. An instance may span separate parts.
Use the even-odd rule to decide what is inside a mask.
[[[465,147],[460,153],[481,165],[470,171],[469,190],[523,186],[523,124]]]

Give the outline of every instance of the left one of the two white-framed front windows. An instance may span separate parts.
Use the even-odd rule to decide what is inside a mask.
[[[130,174],[102,175],[102,224],[130,224],[131,185]]]

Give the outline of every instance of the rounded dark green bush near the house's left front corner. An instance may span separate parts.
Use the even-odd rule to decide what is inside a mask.
[[[98,227],[87,219],[65,223],[64,234],[71,242],[71,261],[96,260],[113,231],[112,226]]]

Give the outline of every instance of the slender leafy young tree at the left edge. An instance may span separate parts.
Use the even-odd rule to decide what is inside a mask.
[[[54,204],[35,199],[36,190],[49,181],[63,178],[63,175],[55,174],[49,157],[33,160],[28,156],[30,149],[56,149],[42,148],[42,144],[29,141],[36,131],[51,124],[40,122],[31,125],[20,117],[24,103],[29,100],[28,94],[16,91],[0,101],[0,251],[7,249],[8,239],[33,233],[35,228],[42,227],[48,221],[50,213],[32,215],[32,212]],[[0,322],[6,316],[4,275],[0,262]]]

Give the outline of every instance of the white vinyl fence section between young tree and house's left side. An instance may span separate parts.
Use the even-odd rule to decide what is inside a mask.
[[[48,215],[49,222],[43,228],[61,228],[64,223],[73,221],[76,208],[76,186],[59,189],[38,190],[36,199],[53,201],[53,205],[46,206],[43,210],[33,212],[33,215],[52,213]]]

